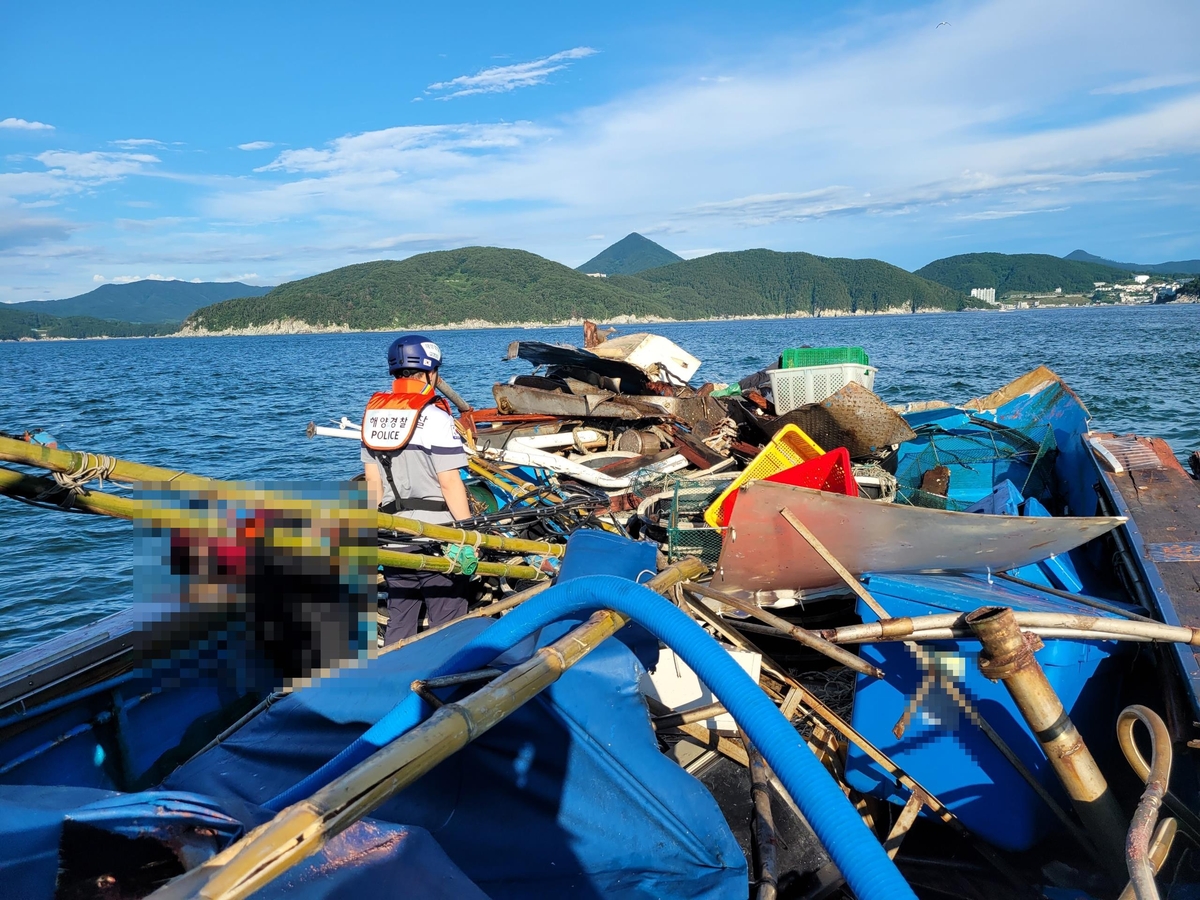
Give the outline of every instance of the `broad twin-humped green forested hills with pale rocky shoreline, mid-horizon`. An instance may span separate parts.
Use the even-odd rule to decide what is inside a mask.
[[[716,253],[638,275],[590,278],[521,250],[464,247],[361,263],[197,310],[185,328],[224,331],[300,322],[400,329],[658,316],[961,310],[982,304],[896,266],[766,250]]]

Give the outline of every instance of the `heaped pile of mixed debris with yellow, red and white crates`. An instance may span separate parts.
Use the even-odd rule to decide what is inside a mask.
[[[672,341],[606,338],[592,323],[583,348],[516,341],[506,359],[534,371],[494,385],[493,409],[464,414],[476,458],[602,491],[612,527],[674,558],[715,562],[728,510],[710,509],[734,481],[779,476],[893,499],[888,462],[914,437],[871,391],[875,368],[857,347],[786,350],[737,384],[700,386],[701,361]]]

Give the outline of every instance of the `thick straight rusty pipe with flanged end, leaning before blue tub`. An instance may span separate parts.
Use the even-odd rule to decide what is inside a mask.
[[[1021,632],[1013,611],[1004,606],[976,610],[966,622],[983,644],[979,671],[1001,680],[1016,703],[1067,790],[1075,812],[1110,860],[1114,877],[1124,880],[1126,821],[1104,774],[1080,737],[1062,701],[1050,686],[1033,653],[1042,642]]]

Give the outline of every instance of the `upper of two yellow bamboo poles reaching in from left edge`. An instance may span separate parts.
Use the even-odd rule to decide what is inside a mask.
[[[98,473],[103,475],[101,480],[120,481],[124,484],[150,481],[190,488],[204,488],[218,484],[228,484],[205,478],[204,475],[193,475],[188,472],[164,469],[158,466],[146,466],[139,462],[118,460],[113,456],[88,454],[77,450],[56,450],[42,444],[30,444],[24,440],[5,437],[0,437],[0,460],[35,466],[68,476],[83,473],[92,474],[92,478],[96,478],[97,475],[94,473]],[[286,502],[282,494],[280,502]],[[292,503],[304,505],[302,500],[298,502],[293,499]],[[428,524],[427,522],[420,522],[408,516],[396,516],[388,512],[377,512],[376,515],[378,516],[377,527],[379,528],[445,541],[446,544],[469,544],[473,547],[485,547],[487,550],[500,550],[512,553],[538,553],[553,557],[562,557],[566,552],[562,544],[527,541],[520,538],[467,532],[462,528]]]

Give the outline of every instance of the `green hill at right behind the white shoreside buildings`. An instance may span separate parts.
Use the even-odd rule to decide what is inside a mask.
[[[1130,276],[1127,269],[1044,253],[962,253],[935,259],[916,274],[967,293],[971,288],[996,288],[997,296],[1010,292],[1045,293],[1056,288],[1067,294],[1090,294],[1098,281],[1111,283]]]

